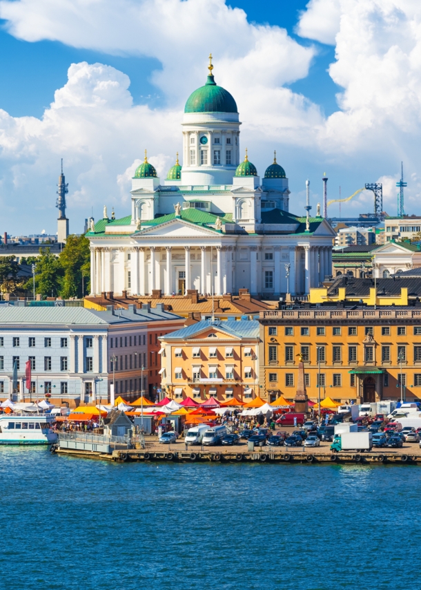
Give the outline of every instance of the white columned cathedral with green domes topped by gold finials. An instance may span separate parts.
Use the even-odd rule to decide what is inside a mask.
[[[335,233],[317,217],[289,212],[288,179],[277,164],[262,182],[246,156],[240,163],[239,114],[217,86],[206,84],[184,108],[183,165],[161,180],[145,159],[133,177],[131,214],[93,222],[91,295],[235,294],[266,299],[308,294],[331,274]],[[113,217],[113,216],[112,216]]]

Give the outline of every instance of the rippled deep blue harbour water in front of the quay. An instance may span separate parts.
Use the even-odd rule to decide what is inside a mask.
[[[0,448],[0,589],[419,587],[417,466],[115,464]]]

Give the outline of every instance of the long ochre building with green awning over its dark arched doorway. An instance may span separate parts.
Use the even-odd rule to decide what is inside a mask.
[[[313,400],[319,382],[322,399],[421,399],[421,306],[262,312],[260,338],[260,381],[268,401],[295,396],[298,354]]]

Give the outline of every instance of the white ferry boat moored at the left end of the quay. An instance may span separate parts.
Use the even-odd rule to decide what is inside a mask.
[[[0,444],[54,444],[57,434],[52,431],[54,416],[45,414],[1,414]]]

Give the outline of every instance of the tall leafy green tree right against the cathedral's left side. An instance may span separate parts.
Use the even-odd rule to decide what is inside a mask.
[[[59,263],[63,271],[60,292],[63,299],[81,298],[89,293],[90,250],[88,238],[68,236],[66,246],[59,256]],[[84,285],[83,292],[82,284]]]

